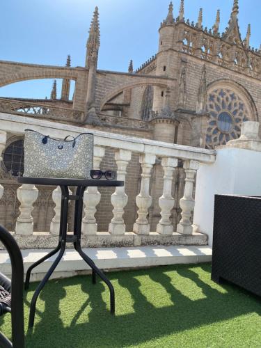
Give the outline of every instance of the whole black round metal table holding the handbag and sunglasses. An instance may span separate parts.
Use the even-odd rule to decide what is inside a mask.
[[[81,255],[81,258],[90,266],[92,269],[92,279],[93,283],[96,283],[96,274],[104,280],[106,285],[109,287],[110,291],[110,301],[111,301],[111,313],[115,313],[115,295],[114,295],[114,289],[113,285],[111,284],[110,280],[104,275],[104,273],[98,269],[86,253],[81,248],[81,219],[82,219],[82,211],[83,211],[83,200],[84,200],[84,191],[86,190],[86,187],[120,187],[124,185],[123,181],[118,180],[79,180],[79,179],[57,179],[57,178],[45,178],[45,177],[17,177],[17,182],[20,184],[34,184],[34,185],[45,185],[45,186],[59,186],[61,187],[61,219],[60,219],[60,232],[59,232],[59,239],[58,239],[58,245],[56,248],[45,255],[43,258],[40,258],[40,260],[36,261],[34,264],[32,264],[29,269],[26,272],[26,280],[25,280],[25,289],[27,290],[29,288],[29,282],[30,282],[30,275],[33,268],[38,266],[38,264],[41,264],[48,258],[50,258],[52,255],[58,253],[57,258],[54,260],[52,266],[47,271],[47,274],[45,274],[45,277],[42,279],[40,284],[35,290],[35,293],[33,294],[33,299],[31,301],[30,306],[30,316],[29,316],[29,327],[32,328],[34,324],[34,317],[35,317],[35,306],[36,301],[38,299],[38,296],[42,290],[42,288],[45,286],[45,283],[47,283],[47,280],[54,272],[54,269],[56,269],[58,263],[61,261],[61,258],[63,257],[63,253],[65,251],[66,243],[73,243],[75,250]],[[77,187],[77,191],[75,195],[69,194],[69,186],[75,186]],[[75,209],[74,209],[74,233],[73,235],[68,235],[67,233],[67,221],[68,221],[68,203],[69,200],[75,200]]]

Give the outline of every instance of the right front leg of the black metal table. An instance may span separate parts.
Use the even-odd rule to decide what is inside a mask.
[[[104,283],[108,285],[109,291],[110,291],[111,314],[115,314],[115,293],[114,293],[113,285],[111,284],[110,280],[106,278],[104,273],[95,265],[93,260],[91,260],[86,255],[86,253],[84,253],[84,251],[81,249],[81,219],[82,219],[82,211],[83,211],[83,205],[84,205],[83,198],[84,198],[85,189],[86,187],[77,187],[76,195],[79,198],[75,202],[75,210],[74,210],[74,235],[77,236],[76,242],[74,242],[74,248],[79,253],[79,255],[81,255],[81,258],[83,258],[84,261],[92,269],[93,283],[96,283],[96,274],[98,274],[98,276],[100,276],[100,278],[104,280]]]

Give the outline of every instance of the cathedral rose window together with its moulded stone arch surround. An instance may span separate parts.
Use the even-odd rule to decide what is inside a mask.
[[[258,120],[253,98],[244,86],[235,81],[220,79],[207,86],[206,145],[214,148],[239,138],[242,122]]]

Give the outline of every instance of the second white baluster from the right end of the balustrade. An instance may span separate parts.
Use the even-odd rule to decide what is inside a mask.
[[[159,207],[161,207],[161,219],[157,224],[157,232],[161,235],[172,235],[173,226],[171,225],[171,210],[174,207],[174,198],[171,196],[173,171],[177,166],[177,158],[166,157],[161,160],[161,166],[164,169],[164,187],[163,194],[159,198]]]

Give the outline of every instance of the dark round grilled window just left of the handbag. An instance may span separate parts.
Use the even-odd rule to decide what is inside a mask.
[[[10,143],[3,152],[3,164],[6,171],[13,176],[24,174],[24,141],[17,140]]]

